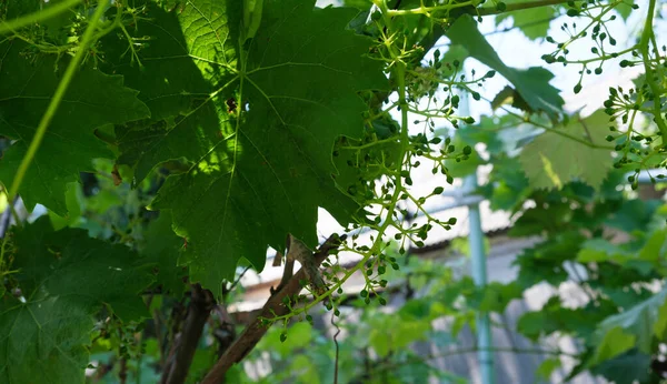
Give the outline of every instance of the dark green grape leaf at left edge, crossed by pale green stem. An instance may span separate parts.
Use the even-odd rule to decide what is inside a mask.
[[[56,55],[30,60],[26,49],[18,39],[0,43],[0,135],[16,140],[0,160],[0,181],[8,188],[68,63]],[[92,159],[113,158],[94,129],[149,115],[136,95],[120,77],[90,68],[76,74],[19,190],[29,210],[41,203],[67,214],[67,184],[92,171]]]

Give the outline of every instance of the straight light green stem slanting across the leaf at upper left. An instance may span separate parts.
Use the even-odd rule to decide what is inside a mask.
[[[64,97],[64,93],[67,92],[67,89],[69,88],[69,84],[72,81],[72,78],[74,77],[74,72],[77,71],[79,64],[81,63],[81,60],[83,60],[83,57],[86,55],[88,46],[90,44],[94,36],[94,29],[98,24],[98,21],[104,13],[106,6],[109,0],[98,1],[98,7],[94,10],[94,13],[92,14],[92,18],[90,19],[88,27],[83,32],[83,36],[81,37],[81,44],[79,46],[79,49],[77,50],[77,53],[74,54],[72,60],[67,65],[64,74],[62,75],[62,80],[60,80],[60,82],[58,83],[56,93],[53,93],[53,98],[51,98],[51,102],[49,103],[47,111],[42,115],[42,119],[39,122],[39,125],[37,127],[37,132],[34,133],[34,138],[32,138],[32,141],[30,142],[30,146],[28,146],[28,152],[26,153],[26,155],[21,160],[21,163],[19,164],[17,175],[14,176],[14,180],[11,183],[11,188],[9,189],[10,201],[19,192],[19,188],[23,182],[26,172],[28,171],[28,168],[30,168],[30,163],[32,163],[32,160],[34,159],[34,155],[37,154],[37,151],[41,145],[44,134],[47,133],[47,128],[51,123],[56,111],[58,111],[58,107],[60,107],[60,102],[62,102],[62,98]]]

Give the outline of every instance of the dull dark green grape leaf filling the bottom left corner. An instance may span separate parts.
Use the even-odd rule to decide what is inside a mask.
[[[24,300],[0,302],[0,382],[83,383],[92,315],[103,305],[123,321],[147,315],[138,293],[151,265],[83,230],[53,231],[48,216],[14,233],[14,246]]]

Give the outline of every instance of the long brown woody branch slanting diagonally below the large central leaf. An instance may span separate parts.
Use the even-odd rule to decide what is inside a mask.
[[[337,249],[344,239],[332,234],[313,254],[313,264],[319,265],[329,256],[329,252]],[[225,354],[218,360],[216,365],[203,377],[201,384],[219,384],[225,381],[227,371],[235,364],[241,362],[250,351],[257,345],[261,337],[267,333],[268,327],[260,321],[261,317],[281,316],[289,313],[289,309],[282,304],[285,297],[291,297],[301,292],[300,281],[306,280],[307,274],[300,269],[289,282],[280,290],[276,291],[261,309],[260,315],[256,317],[237,338],[231,346],[225,351]]]

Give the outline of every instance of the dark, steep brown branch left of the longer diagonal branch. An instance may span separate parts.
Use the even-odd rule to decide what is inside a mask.
[[[188,304],[188,314],[186,316],[183,330],[178,337],[178,345],[175,348],[175,355],[172,361],[165,370],[161,383],[165,384],[181,384],[186,382],[188,371],[190,371],[190,364],[199,338],[203,332],[203,325],[206,324],[216,301],[210,291],[203,290],[201,285],[192,285],[192,295],[190,297],[190,304]]]

